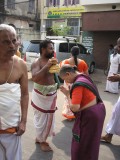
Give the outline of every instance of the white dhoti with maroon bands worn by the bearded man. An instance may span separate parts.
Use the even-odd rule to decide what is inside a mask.
[[[46,88],[45,92],[41,93],[40,90],[43,88]],[[54,135],[57,85],[52,86],[52,89],[50,88],[50,86],[42,86],[39,89],[34,88],[32,91],[31,104],[34,108],[34,126],[37,140],[40,142],[45,142],[48,136]]]

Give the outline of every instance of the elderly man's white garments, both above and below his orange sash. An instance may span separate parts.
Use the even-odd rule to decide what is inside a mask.
[[[20,97],[19,84],[0,85],[0,131],[18,126],[21,115]],[[20,139],[16,134],[0,134],[0,160],[22,160]]]

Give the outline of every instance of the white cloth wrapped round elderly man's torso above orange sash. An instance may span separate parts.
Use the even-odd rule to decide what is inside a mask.
[[[20,84],[0,85],[0,129],[17,127],[21,116]]]

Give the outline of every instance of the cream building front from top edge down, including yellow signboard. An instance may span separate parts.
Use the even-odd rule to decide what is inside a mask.
[[[46,35],[52,35],[52,27],[56,26],[62,30],[69,26],[68,36],[74,36],[80,40],[81,15],[84,12],[84,7],[80,5],[79,0],[45,0],[42,5],[42,32],[46,31]]]

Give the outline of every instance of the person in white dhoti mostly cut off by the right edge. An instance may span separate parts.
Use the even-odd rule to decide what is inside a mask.
[[[117,49],[120,53],[120,38],[117,41]],[[112,75],[108,77],[108,80],[111,82],[118,82],[120,81],[120,74]],[[113,135],[120,136],[120,97],[114,106],[111,119],[107,123],[106,132],[107,134],[102,136],[101,140],[107,143],[111,143]]]

